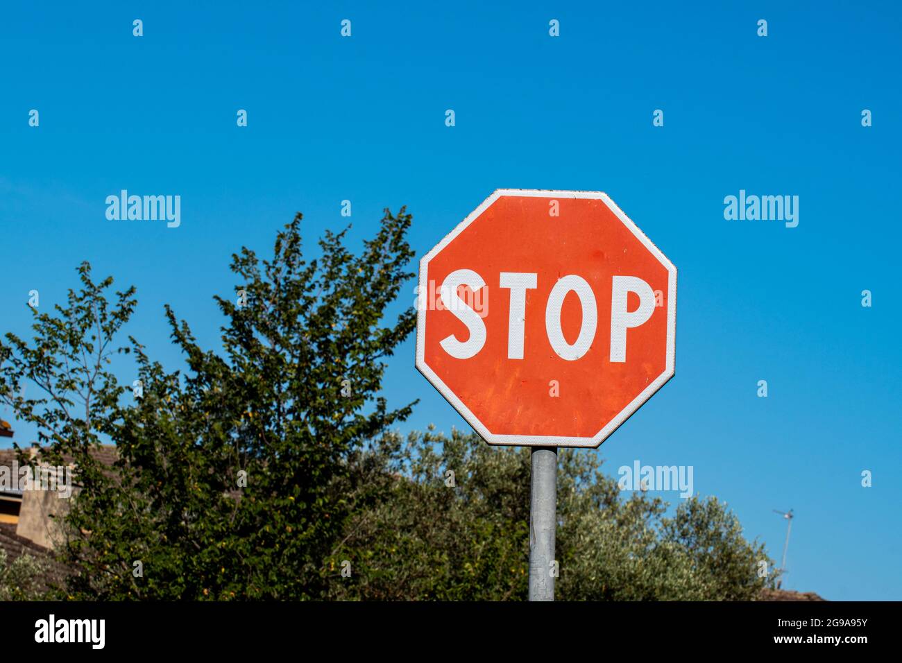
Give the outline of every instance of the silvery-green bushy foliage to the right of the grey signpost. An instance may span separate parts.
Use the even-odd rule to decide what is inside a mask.
[[[715,497],[691,496],[667,516],[648,493],[624,499],[595,454],[561,455],[560,594],[570,600],[755,600],[773,587],[764,544],[742,537],[735,514]]]

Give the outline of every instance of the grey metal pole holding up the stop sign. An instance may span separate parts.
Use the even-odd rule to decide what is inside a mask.
[[[557,447],[532,447],[529,494],[529,601],[554,601]]]

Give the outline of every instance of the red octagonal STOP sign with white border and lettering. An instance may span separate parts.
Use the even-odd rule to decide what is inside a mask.
[[[419,264],[417,368],[489,444],[598,447],[675,336],[676,267],[601,192],[497,190]]]

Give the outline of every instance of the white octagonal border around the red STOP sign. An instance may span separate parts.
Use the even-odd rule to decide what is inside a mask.
[[[607,426],[602,428],[598,433],[596,433],[593,437],[558,437],[558,436],[545,436],[545,435],[496,435],[492,433],[488,428],[485,428],[483,422],[480,421],[469,408],[466,407],[464,401],[461,401],[457,398],[456,394],[451,391],[445,382],[437,376],[437,374],[429,368],[428,364],[426,364],[425,353],[426,353],[426,307],[428,306],[427,301],[428,297],[426,293],[428,293],[428,270],[429,270],[429,261],[434,258],[438,252],[444,249],[448,244],[451,243],[452,240],[457,235],[460,235],[466,226],[469,226],[474,220],[482,215],[482,213],[490,206],[492,203],[501,198],[502,196],[517,196],[517,197],[533,197],[533,198],[594,198],[597,200],[603,200],[604,204],[608,206],[609,209],[614,213],[617,218],[621,220],[624,226],[627,226],[630,229],[630,232],[633,235],[636,235],[636,238],[645,245],[645,247],[652,253],[658,261],[661,262],[669,273],[669,278],[667,280],[667,367],[664,370],[664,373],[658,375],[658,378],[649,384],[648,387],[642,391],[639,396],[637,396],[629,405],[627,405],[623,410],[621,410],[620,414],[614,417]],[[485,198],[483,204],[479,207],[476,207],[473,212],[470,213],[454,230],[452,230],[446,237],[436,244],[436,246],[422,257],[419,261],[419,296],[418,296],[418,312],[417,312],[417,369],[423,376],[432,383],[441,394],[445,397],[445,400],[448,401],[455,410],[460,412],[460,414],[466,419],[467,423],[470,424],[474,428],[474,430],[479,433],[483,439],[488,442],[490,445],[519,445],[526,447],[598,447],[602,444],[602,442],[611,436],[611,434],[620,428],[621,424],[630,419],[630,417],[635,413],[636,410],[639,410],[645,401],[648,401],[649,398],[658,391],[661,387],[663,387],[670,378],[674,376],[674,362],[675,362],[675,345],[676,345],[676,267],[673,262],[667,260],[667,256],[664,253],[661,253],[655,244],[652,244],[651,240],[645,236],[645,234],[639,229],[636,224],[630,221],[629,216],[623,214],[623,211],[620,207],[614,203],[611,198],[608,198],[607,194],[602,191],[553,191],[553,190],[538,190],[538,189],[497,189],[491,196]]]

